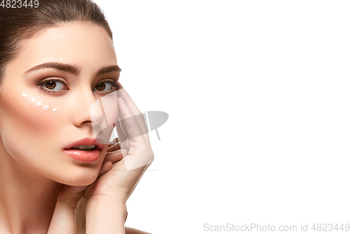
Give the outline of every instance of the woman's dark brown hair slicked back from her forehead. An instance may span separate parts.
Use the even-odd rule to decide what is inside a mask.
[[[22,41],[65,22],[93,22],[112,31],[100,7],[91,0],[39,0],[38,8],[0,7],[0,86],[6,64],[20,52]]]

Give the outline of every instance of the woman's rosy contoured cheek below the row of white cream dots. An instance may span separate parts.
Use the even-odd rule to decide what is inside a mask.
[[[0,133],[8,152],[13,149],[38,153],[38,150],[45,150],[46,146],[57,143],[55,134],[59,134],[62,115],[53,112],[56,107],[36,97],[16,94],[3,96],[1,101]],[[30,101],[30,98],[35,100]],[[40,106],[37,105],[38,101],[41,101]],[[44,110],[46,104],[48,110]]]

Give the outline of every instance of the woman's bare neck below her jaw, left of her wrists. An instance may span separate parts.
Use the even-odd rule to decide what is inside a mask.
[[[3,152],[0,150],[0,233],[47,233],[58,193],[65,185]]]

